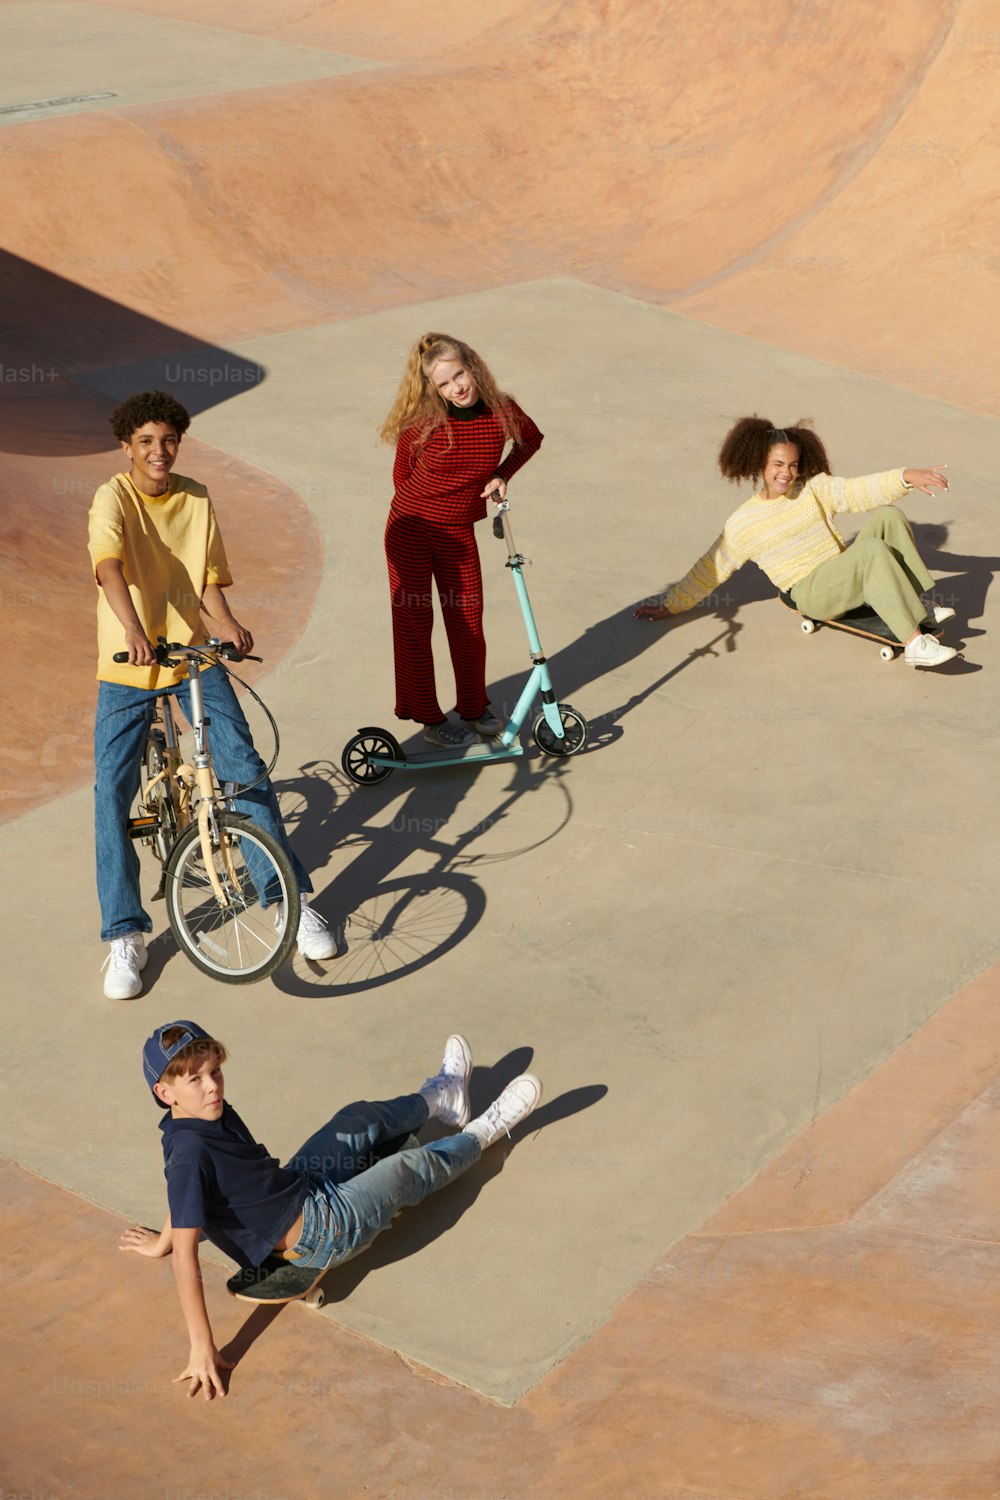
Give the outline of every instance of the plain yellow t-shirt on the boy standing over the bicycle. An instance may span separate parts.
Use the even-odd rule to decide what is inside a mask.
[[[144,495],[127,474],[115,474],[94,495],[87,544],[94,574],[105,558],[120,560],[153,644],[157,636],[180,645],[204,639],[201,596],[208,584],[232,582],[204,484],[171,474],[165,495]],[[115,651],[124,651],[124,626],[97,586],[97,681],[163,688],[184,676],[180,668],[123,664]]]

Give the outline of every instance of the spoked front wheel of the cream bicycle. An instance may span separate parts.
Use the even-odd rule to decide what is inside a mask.
[[[270,834],[232,813],[216,818],[211,861],[222,902],[208,874],[201,830],[192,824],[166,864],[166,914],[177,946],[223,984],[265,980],[285,962],[298,933],[291,861]]]

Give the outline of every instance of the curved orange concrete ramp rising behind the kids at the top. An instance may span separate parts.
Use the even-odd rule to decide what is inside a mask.
[[[985,0],[472,15],[334,6],[310,45],[396,66],[7,123],[4,242],[207,339],[561,272],[996,410]]]

